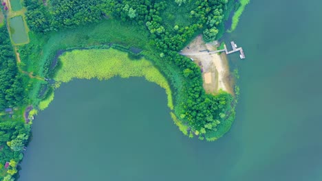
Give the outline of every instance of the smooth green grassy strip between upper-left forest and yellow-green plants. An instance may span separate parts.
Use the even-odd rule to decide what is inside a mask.
[[[108,20],[52,34],[30,34],[30,43],[19,48],[22,68],[43,77],[45,63],[54,60],[58,50],[82,49],[109,43],[151,49],[145,31],[119,21]]]

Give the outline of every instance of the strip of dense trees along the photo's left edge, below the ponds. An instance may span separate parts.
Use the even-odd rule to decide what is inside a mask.
[[[22,75],[19,73],[14,56],[14,50],[6,26],[0,27],[0,113],[5,108],[13,108],[26,103],[26,95],[23,88]],[[5,113],[5,117],[7,116]],[[6,169],[6,177],[3,180],[12,180],[17,173],[17,164],[23,158],[23,147],[27,143],[30,134],[30,125],[25,125],[24,120],[4,119],[0,114],[0,169],[3,170],[6,162],[10,166]],[[0,173],[0,178],[4,176]]]

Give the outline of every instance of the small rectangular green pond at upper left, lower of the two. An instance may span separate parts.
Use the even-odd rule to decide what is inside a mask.
[[[14,43],[20,44],[28,41],[28,34],[25,32],[25,23],[23,23],[22,16],[15,16],[10,19],[10,32]]]

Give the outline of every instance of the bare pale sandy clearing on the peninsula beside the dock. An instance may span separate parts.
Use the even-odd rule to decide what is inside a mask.
[[[187,57],[192,58],[202,69],[202,78],[204,80],[204,90],[206,93],[216,94],[222,89],[233,94],[231,78],[229,72],[226,54],[212,53],[217,47],[204,43],[202,36],[197,36],[187,47],[182,49],[181,53],[187,53]]]

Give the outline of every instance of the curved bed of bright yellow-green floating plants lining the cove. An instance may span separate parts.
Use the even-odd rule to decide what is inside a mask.
[[[171,88],[167,79],[145,58],[131,60],[127,53],[116,49],[87,49],[66,52],[60,60],[61,69],[54,77],[56,81],[69,82],[74,78],[108,80],[115,76],[145,77],[166,90],[168,106],[173,110]],[[50,96],[52,98],[54,95]]]

